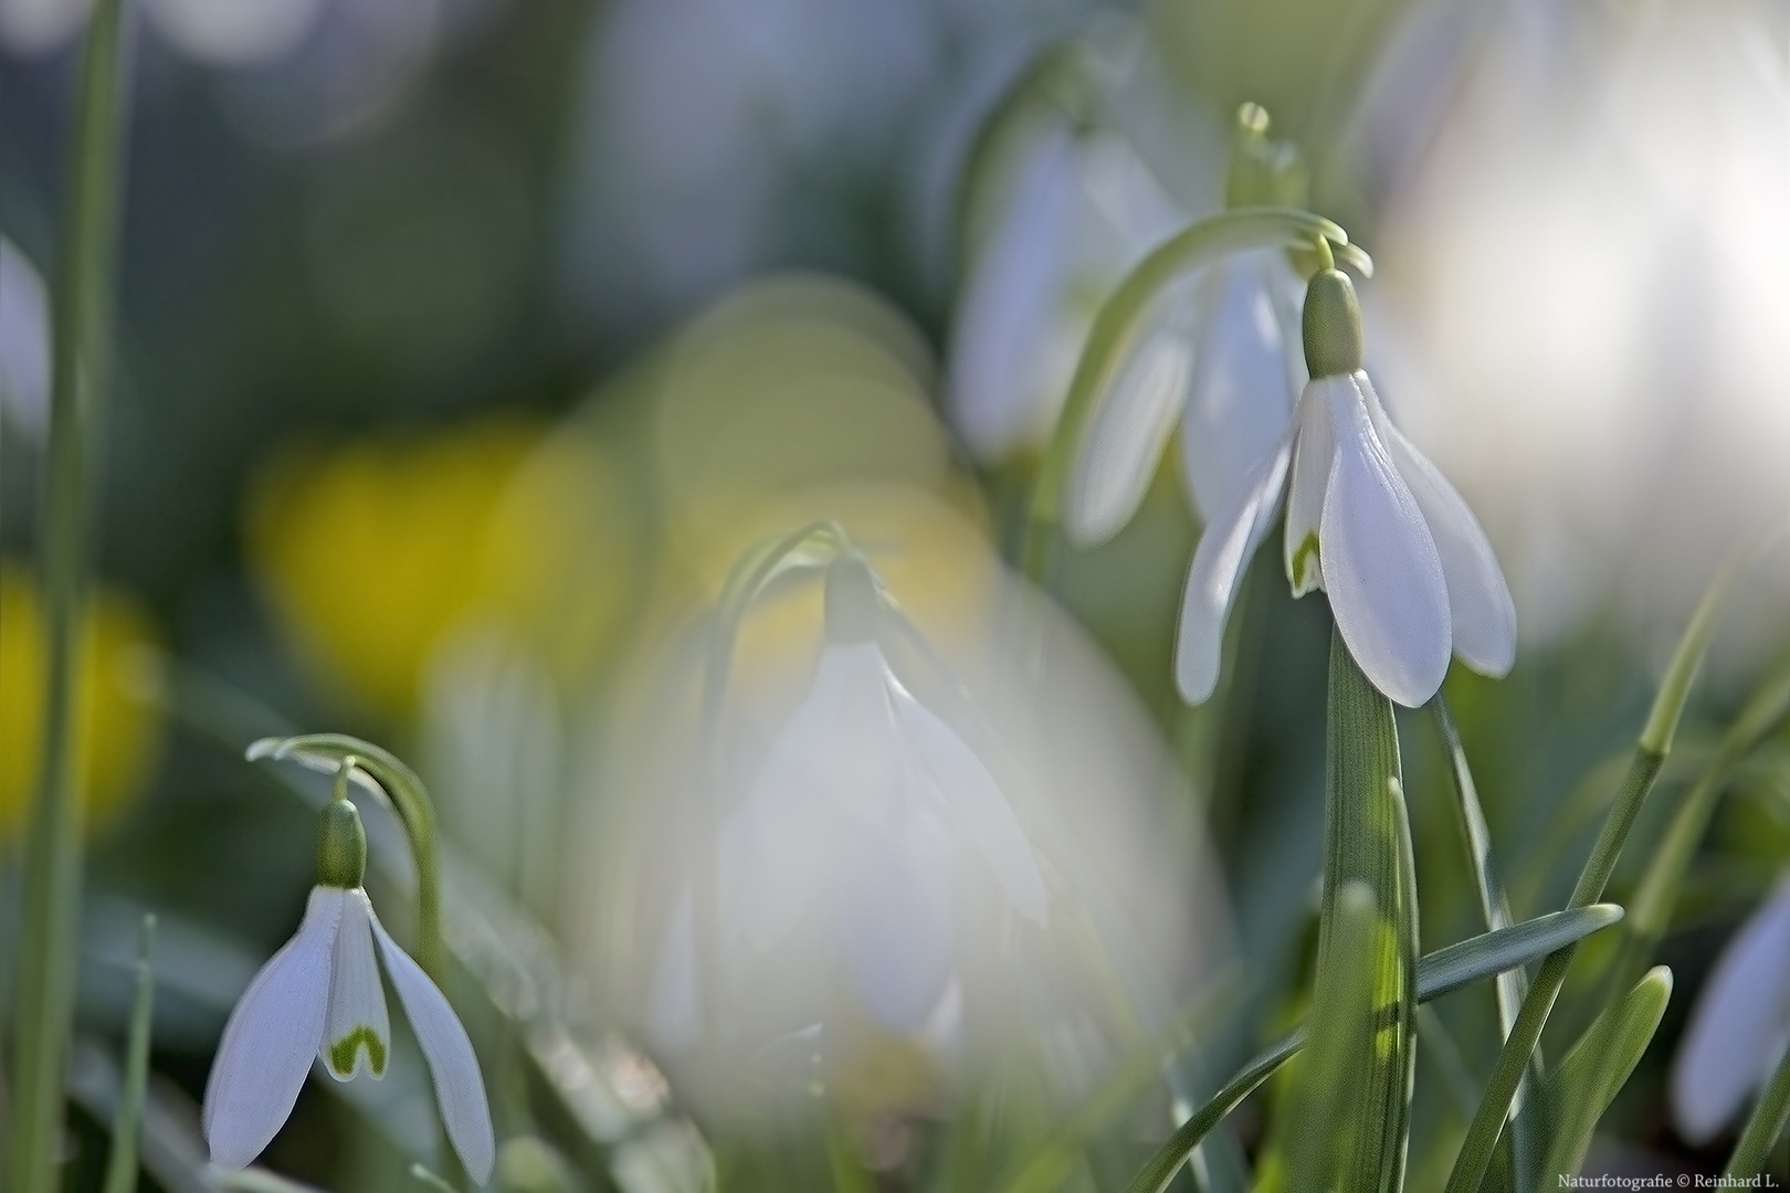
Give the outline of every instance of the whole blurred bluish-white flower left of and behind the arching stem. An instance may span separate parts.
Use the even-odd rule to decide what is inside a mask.
[[[1044,442],[1099,300],[1183,222],[1115,136],[1049,123],[1015,156],[950,327],[947,411],[986,461]]]

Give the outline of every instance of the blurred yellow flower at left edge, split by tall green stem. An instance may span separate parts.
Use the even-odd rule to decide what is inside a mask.
[[[25,826],[43,749],[45,624],[32,574],[0,563],[0,844]],[[149,615],[102,590],[82,624],[77,789],[91,823],[136,792],[156,757],[159,724],[149,698],[158,642]]]

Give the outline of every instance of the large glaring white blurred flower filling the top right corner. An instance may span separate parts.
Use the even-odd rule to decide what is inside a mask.
[[[1368,182],[1403,349],[1377,376],[1484,517],[1525,633],[1616,613],[1668,644],[1735,540],[1790,508],[1785,9],[1419,7],[1466,25],[1389,59],[1369,91],[1398,98],[1359,127],[1398,168]],[[1471,55],[1428,86],[1446,45]],[[1385,118],[1425,111],[1394,152]],[[1500,263],[1470,286],[1462,238]],[[1783,558],[1729,619],[1742,653],[1781,628]]]

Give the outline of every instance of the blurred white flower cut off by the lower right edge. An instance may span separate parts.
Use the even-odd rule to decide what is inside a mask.
[[[1704,982],[1672,1064],[1672,1118],[1715,1139],[1790,1045],[1790,878],[1735,934]]]

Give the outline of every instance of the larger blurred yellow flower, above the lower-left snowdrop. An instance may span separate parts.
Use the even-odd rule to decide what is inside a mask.
[[[587,436],[487,419],[286,451],[251,492],[247,546],[303,656],[403,717],[460,633],[512,635],[562,674],[587,665],[621,605],[616,510]]]

